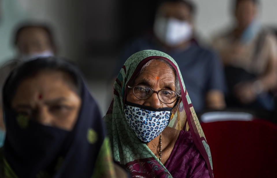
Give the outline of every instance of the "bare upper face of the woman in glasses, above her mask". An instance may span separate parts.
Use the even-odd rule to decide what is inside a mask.
[[[153,90],[169,89],[175,91],[175,74],[165,63],[153,61],[150,63],[140,75],[135,79],[133,86],[146,85]],[[171,104],[162,103],[157,93],[153,93],[148,99],[138,99],[133,94],[133,90],[128,91],[126,101],[139,105],[149,106],[155,109],[162,107],[173,107],[175,102]]]

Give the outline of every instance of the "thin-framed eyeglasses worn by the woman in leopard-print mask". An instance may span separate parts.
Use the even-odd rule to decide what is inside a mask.
[[[153,93],[157,93],[159,100],[165,104],[171,104],[176,101],[178,97],[181,97],[181,95],[172,90],[163,89],[154,91],[152,88],[145,85],[136,85],[134,87],[128,86],[128,88],[133,89],[133,93],[137,99],[147,99]]]

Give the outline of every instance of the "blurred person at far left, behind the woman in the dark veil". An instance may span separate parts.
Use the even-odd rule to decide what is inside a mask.
[[[47,25],[39,23],[21,24],[14,34],[13,44],[17,51],[15,59],[8,60],[0,68],[0,90],[12,69],[18,64],[37,57],[48,57],[56,54],[52,31]],[[2,98],[0,96],[0,147],[3,145],[5,127],[3,123]]]

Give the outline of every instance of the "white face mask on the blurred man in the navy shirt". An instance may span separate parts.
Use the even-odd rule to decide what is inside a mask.
[[[184,20],[159,17],[154,23],[154,33],[163,43],[174,47],[191,38],[192,26]]]

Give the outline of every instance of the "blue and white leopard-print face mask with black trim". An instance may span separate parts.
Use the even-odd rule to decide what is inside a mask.
[[[148,143],[157,137],[169,124],[174,107],[154,109],[151,107],[126,102],[125,118],[142,143]]]

